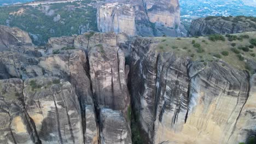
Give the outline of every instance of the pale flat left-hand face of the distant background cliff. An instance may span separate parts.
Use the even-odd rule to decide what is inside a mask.
[[[136,34],[135,9],[131,4],[106,4],[97,11],[98,29],[101,32]]]

